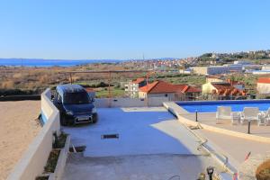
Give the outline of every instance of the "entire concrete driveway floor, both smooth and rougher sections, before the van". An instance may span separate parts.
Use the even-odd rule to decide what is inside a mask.
[[[207,166],[221,170],[164,108],[106,108],[98,114],[96,124],[64,128],[72,144],[86,149],[84,156],[68,158],[63,179],[196,179]],[[119,139],[101,139],[111,133]]]

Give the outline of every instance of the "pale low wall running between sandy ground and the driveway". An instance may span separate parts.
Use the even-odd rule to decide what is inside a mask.
[[[50,101],[50,91],[41,94],[41,112],[46,120],[37,137],[31,142],[8,180],[33,180],[40,175],[52,148],[53,133],[60,130],[58,109]]]

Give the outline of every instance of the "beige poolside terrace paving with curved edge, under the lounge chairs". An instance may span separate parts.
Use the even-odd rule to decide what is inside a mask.
[[[232,125],[230,121],[216,123],[215,113],[199,112],[198,122],[195,113],[186,112],[175,103],[166,103],[169,111],[177,114],[178,120],[186,124],[195,134],[207,140],[207,144],[219,154],[229,158],[229,164],[238,168],[247,154],[251,156],[270,151],[270,126],[251,124],[251,136],[247,134],[247,123]],[[218,129],[216,129],[218,128]],[[225,130],[225,131],[223,131]],[[234,134],[237,132],[238,134]]]

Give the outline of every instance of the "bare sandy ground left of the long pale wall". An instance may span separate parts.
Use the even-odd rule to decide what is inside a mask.
[[[40,101],[0,102],[0,180],[4,180],[40,131]]]

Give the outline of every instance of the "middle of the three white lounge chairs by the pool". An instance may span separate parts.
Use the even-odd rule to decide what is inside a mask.
[[[257,107],[245,107],[241,113],[240,122],[243,124],[245,121],[257,121],[257,125],[260,125],[260,112]]]

